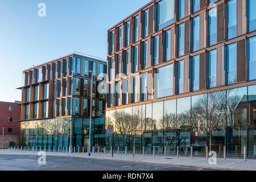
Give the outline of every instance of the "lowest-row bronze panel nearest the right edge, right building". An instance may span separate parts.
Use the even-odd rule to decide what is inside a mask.
[[[237,42],[237,82],[246,81],[246,40]]]

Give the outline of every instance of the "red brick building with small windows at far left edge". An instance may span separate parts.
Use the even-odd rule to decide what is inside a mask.
[[[20,106],[17,102],[0,102],[0,148],[18,147]]]

